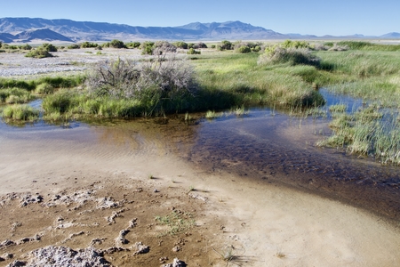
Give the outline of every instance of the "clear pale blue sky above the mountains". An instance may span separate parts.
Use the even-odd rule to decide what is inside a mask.
[[[29,17],[175,27],[191,22],[244,23],[282,34],[380,36],[400,32],[400,0],[17,0],[0,18]]]

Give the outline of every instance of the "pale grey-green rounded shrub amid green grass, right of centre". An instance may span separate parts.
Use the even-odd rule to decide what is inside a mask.
[[[310,53],[304,48],[283,48],[281,46],[272,46],[266,49],[266,52],[260,55],[259,65],[289,63],[290,65],[311,65],[318,67],[321,59]]]

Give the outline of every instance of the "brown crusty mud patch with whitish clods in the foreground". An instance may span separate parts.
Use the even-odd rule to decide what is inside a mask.
[[[223,262],[212,250],[225,243],[212,204],[175,183],[165,187],[122,176],[74,190],[10,193],[0,199],[2,266]]]

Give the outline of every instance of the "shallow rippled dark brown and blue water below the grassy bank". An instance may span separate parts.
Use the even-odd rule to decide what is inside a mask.
[[[124,160],[130,155],[173,154],[210,172],[283,183],[400,219],[400,168],[316,148],[315,142],[331,133],[326,119],[252,109],[244,117],[228,115],[198,122],[187,125],[178,117],[116,120],[104,125],[70,122],[68,127],[43,121],[25,127],[1,122],[0,147],[4,142],[18,147],[20,140],[28,140],[33,149],[45,143],[88,157],[93,150],[100,158]]]

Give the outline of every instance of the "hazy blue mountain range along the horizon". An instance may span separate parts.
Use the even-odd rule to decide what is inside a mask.
[[[383,36],[310,36],[281,34],[272,29],[255,27],[241,21],[200,23],[179,27],[140,27],[107,22],[46,20],[40,18],[0,19],[0,41],[31,42],[108,42],[112,39],[133,40],[271,40],[315,38],[400,38],[400,33]]]

